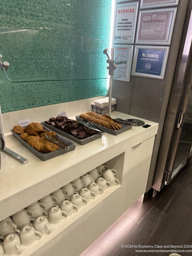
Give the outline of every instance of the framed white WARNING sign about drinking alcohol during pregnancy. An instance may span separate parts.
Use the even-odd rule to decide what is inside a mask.
[[[117,4],[113,30],[113,43],[133,44],[139,2]]]

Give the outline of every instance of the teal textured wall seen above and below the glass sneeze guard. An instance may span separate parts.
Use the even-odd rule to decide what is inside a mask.
[[[14,33],[11,32],[9,34],[9,40],[4,36],[4,33],[7,33],[9,29],[13,30],[13,28],[16,30],[18,28],[35,29],[48,33],[100,38],[108,46],[111,4],[112,1],[109,0],[1,1],[0,26],[3,27],[0,29],[0,52],[1,48],[6,49],[7,47],[7,52],[10,52],[14,47],[14,51],[18,49],[17,58],[23,58],[23,54],[25,54],[24,48],[22,44],[18,44],[18,41],[14,43],[14,36],[12,36]],[[68,37],[68,40],[63,42],[63,47],[68,47],[71,44],[70,40],[72,38]],[[46,40],[44,42],[42,40],[42,44],[46,44]],[[35,46],[36,44],[33,42],[31,47],[34,48]],[[28,47],[30,46],[28,45]],[[45,55],[47,55],[47,47],[42,47],[42,49],[45,49]],[[6,51],[2,55],[3,60],[9,61],[11,67],[11,61],[6,59]],[[76,52],[76,55],[78,58],[78,52]],[[34,56],[34,58],[38,59],[38,56]],[[99,64],[98,58],[98,66]],[[106,70],[101,70],[101,72],[106,74]],[[18,77],[18,73],[15,76]],[[22,76],[22,72],[20,72],[20,76]],[[107,80],[87,79],[11,83],[6,79],[4,72],[0,70],[0,103],[2,112],[105,95],[107,93]]]

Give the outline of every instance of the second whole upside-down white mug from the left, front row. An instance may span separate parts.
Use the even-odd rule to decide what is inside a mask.
[[[21,230],[21,244],[28,246],[35,242],[36,239],[41,239],[41,232],[35,230],[32,226],[26,226]]]

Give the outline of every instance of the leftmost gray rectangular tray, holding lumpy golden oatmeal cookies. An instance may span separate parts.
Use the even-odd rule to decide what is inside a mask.
[[[44,127],[44,130],[46,131],[51,131],[50,129],[48,129],[47,127]],[[46,160],[49,160],[53,157],[56,157],[56,156],[60,156],[60,155],[63,155],[65,153],[68,153],[72,150],[75,150],[76,148],[76,144],[69,141],[69,140],[66,140],[65,138],[59,136],[58,134],[56,135],[56,137],[65,142],[66,144],[69,145],[69,150],[65,150],[63,148],[59,148],[58,150],[56,151],[53,151],[53,152],[50,152],[50,153],[44,153],[44,152],[39,152],[37,151],[35,148],[32,148],[25,140],[21,139],[20,138],[20,134],[17,134],[15,133],[13,130],[11,130],[12,132],[12,135],[25,147],[27,148],[33,155],[35,155],[36,157],[38,157],[40,160],[42,161],[46,161]]]

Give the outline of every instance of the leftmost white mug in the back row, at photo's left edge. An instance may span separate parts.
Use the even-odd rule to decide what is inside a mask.
[[[13,223],[12,219],[6,218],[0,221],[0,235],[5,237],[12,233],[20,233],[20,230],[17,228],[17,225]],[[1,237],[3,239],[3,237]]]

